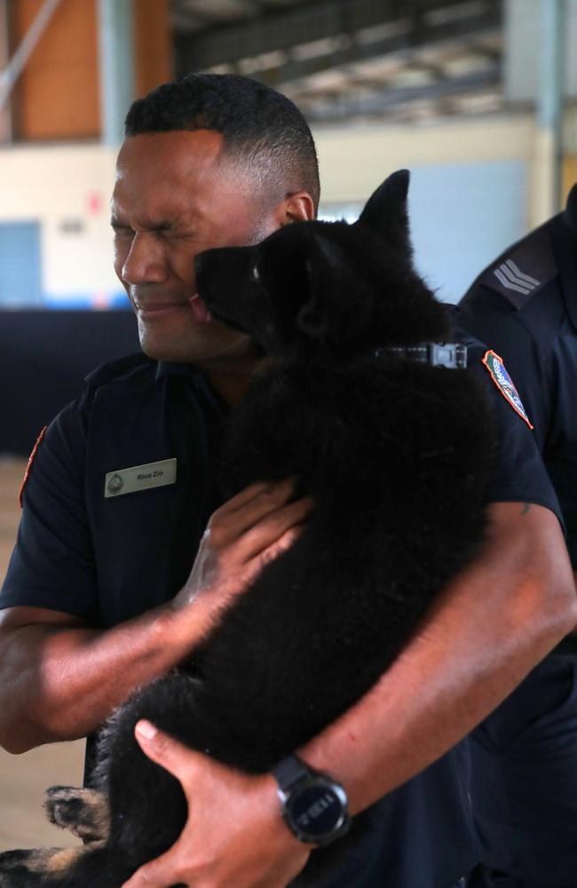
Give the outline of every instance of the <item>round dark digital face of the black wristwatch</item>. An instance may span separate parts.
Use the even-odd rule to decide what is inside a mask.
[[[290,799],[290,819],[298,833],[319,841],[339,829],[346,816],[344,793],[325,781],[298,789]]]

